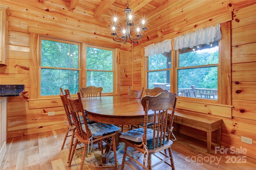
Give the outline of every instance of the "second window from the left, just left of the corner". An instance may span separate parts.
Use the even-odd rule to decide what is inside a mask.
[[[114,92],[114,49],[87,45],[86,86],[102,87],[102,93]]]

